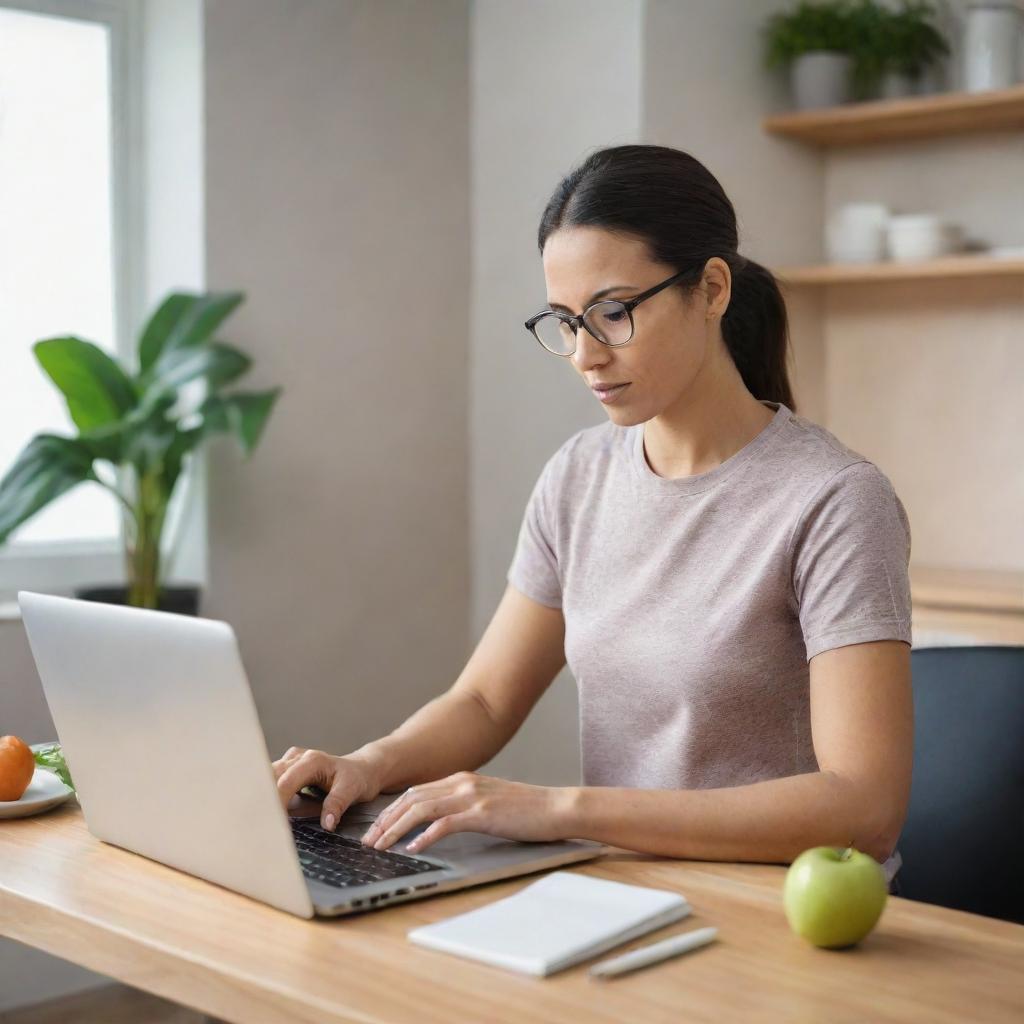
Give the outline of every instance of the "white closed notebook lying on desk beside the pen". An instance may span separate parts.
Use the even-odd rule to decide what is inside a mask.
[[[512,896],[414,928],[417,945],[548,975],[685,918],[679,893],[552,871]]]

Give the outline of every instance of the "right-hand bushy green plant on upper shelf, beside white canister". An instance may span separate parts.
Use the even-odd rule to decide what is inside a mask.
[[[853,91],[857,98],[908,96],[924,91],[925,73],[950,52],[927,0],[900,0],[898,9],[860,0],[852,18],[857,37]]]

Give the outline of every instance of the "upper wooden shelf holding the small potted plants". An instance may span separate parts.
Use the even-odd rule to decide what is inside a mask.
[[[765,118],[762,127],[773,135],[821,146],[1024,131],[1024,83],[986,92],[939,92],[779,114]]]

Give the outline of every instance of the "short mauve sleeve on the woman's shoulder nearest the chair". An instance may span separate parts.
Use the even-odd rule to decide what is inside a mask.
[[[840,470],[795,527],[793,588],[807,660],[869,640],[910,644],[910,522],[870,462]]]

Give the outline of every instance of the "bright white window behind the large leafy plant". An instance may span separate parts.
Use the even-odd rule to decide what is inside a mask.
[[[0,474],[39,431],[75,433],[35,341],[75,334],[131,365],[130,14],[0,0]],[[110,493],[79,484],[0,547],[0,592],[121,580],[121,537]]]

